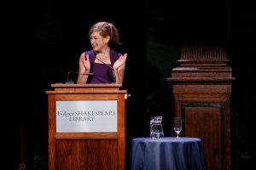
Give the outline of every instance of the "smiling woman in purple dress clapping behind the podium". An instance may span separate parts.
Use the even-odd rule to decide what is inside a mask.
[[[109,47],[120,44],[117,28],[105,21],[97,22],[91,26],[89,38],[92,50],[80,55],[77,83],[122,83],[127,54],[119,54]]]

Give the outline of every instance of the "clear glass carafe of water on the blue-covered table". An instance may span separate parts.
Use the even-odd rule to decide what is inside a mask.
[[[164,130],[162,126],[162,116],[155,116],[150,121],[150,137],[151,139],[161,139],[164,137]]]

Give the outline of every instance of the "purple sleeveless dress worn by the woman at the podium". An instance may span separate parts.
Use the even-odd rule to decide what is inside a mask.
[[[86,83],[112,83],[114,81],[113,78],[113,63],[119,59],[121,54],[110,49],[110,61],[111,65],[104,63],[95,63],[96,54],[94,54],[93,50],[86,51],[84,54],[89,54],[90,58],[90,72],[93,72],[93,75],[89,76]]]

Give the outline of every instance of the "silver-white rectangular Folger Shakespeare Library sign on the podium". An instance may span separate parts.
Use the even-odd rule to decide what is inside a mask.
[[[56,133],[117,132],[117,100],[56,101]]]

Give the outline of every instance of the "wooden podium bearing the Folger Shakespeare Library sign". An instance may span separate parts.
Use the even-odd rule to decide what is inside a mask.
[[[121,84],[52,84],[49,170],[125,170]]]

